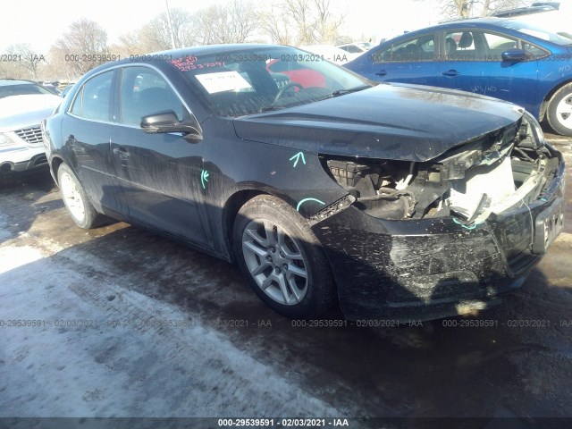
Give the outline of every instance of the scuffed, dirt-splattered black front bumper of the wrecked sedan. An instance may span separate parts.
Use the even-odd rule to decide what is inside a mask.
[[[542,198],[470,227],[452,217],[383,220],[356,206],[315,223],[344,315],[429,320],[500,302],[562,229],[564,172],[560,161]]]

